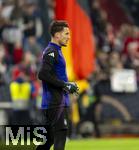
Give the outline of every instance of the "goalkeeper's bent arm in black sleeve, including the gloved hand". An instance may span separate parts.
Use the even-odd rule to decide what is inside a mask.
[[[57,61],[57,51],[49,51],[48,53],[44,54],[43,63],[38,73],[38,78],[54,87],[62,88],[67,93],[77,93],[79,88],[75,83],[64,82],[63,80],[59,80],[57,78],[54,66]]]

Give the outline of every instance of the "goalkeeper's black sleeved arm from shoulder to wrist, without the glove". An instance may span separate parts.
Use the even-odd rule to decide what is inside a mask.
[[[64,88],[65,82],[59,80],[55,74],[55,63],[58,61],[58,53],[55,50],[51,50],[44,54],[43,63],[38,73],[38,78],[46,83],[57,87]]]

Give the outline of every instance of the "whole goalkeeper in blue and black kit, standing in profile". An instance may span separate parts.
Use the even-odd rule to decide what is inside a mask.
[[[42,54],[38,78],[42,81],[42,122],[47,127],[47,142],[38,150],[64,150],[68,129],[68,94],[78,92],[73,82],[68,82],[66,64],[61,47],[67,46],[70,30],[66,21],[53,21],[50,25],[51,42]]]

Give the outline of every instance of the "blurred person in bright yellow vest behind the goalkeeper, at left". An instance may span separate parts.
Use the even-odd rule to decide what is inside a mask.
[[[12,125],[30,125],[30,101],[32,86],[26,79],[27,75],[22,75],[10,83],[10,93],[13,111],[10,118]]]

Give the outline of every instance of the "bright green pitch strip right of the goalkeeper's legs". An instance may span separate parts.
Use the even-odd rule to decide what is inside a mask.
[[[92,139],[69,141],[66,150],[139,150],[139,139]]]

